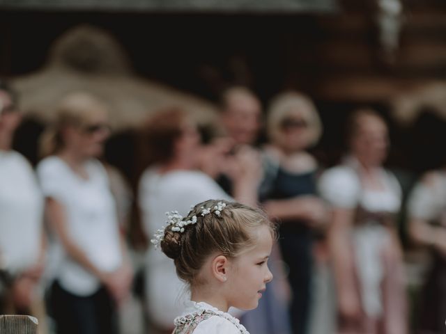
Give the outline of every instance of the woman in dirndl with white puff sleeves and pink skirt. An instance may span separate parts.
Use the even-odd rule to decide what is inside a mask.
[[[394,216],[401,189],[382,167],[387,126],[374,111],[353,114],[351,155],[321,177],[332,206],[328,232],[339,333],[404,334],[406,303]]]

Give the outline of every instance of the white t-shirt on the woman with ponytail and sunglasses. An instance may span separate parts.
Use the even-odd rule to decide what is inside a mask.
[[[116,205],[109,189],[107,173],[99,161],[85,163],[88,180],[73,173],[59,157],[47,157],[37,173],[43,193],[63,205],[70,239],[102,271],[112,272],[121,265]],[[98,278],[61,251],[56,278],[72,294],[89,296],[99,287]]]

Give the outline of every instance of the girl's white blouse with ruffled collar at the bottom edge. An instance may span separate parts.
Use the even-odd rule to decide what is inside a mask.
[[[194,319],[197,320],[197,318],[203,315],[203,312],[206,311],[210,311],[215,315],[199,321],[193,334],[249,334],[246,328],[240,324],[238,319],[232,317],[227,312],[214,308],[208,303],[204,303],[203,301],[200,301],[199,303],[195,301],[186,302],[183,315],[177,317],[175,323],[181,326],[181,324],[190,323],[191,320],[193,322]],[[189,332],[187,331],[187,333]]]

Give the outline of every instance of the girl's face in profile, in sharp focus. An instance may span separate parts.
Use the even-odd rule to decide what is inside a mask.
[[[229,305],[243,310],[252,310],[259,305],[266,283],[272,280],[268,269],[268,257],[272,237],[268,226],[256,228],[256,244],[233,259],[229,276]]]

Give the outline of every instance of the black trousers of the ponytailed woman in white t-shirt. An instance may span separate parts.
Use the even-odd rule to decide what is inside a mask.
[[[76,296],[55,282],[48,304],[58,334],[118,333],[116,304],[105,287],[91,296]]]

